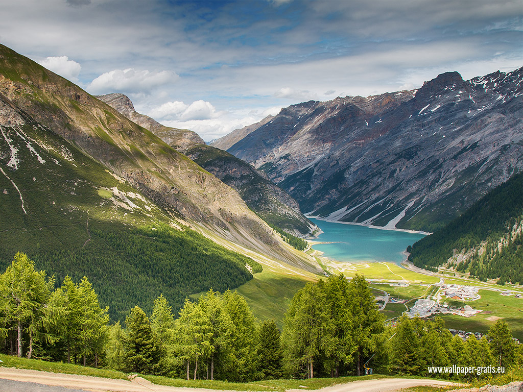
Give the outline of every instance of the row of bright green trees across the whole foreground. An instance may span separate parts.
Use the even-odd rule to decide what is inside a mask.
[[[66,276],[55,287],[54,278],[22,253],[0,275],[0,347],[27,358],[235,382],[360,375],[369,367],[431,376],[428,366],[508,370],[523,364],[522,346],[503,320],[482,339],[467,341],[453,337],[439,318],[404,316],[385,325],[358,274],[350,281],[339,274],[307,283],[292,298],[281,332],[274,320],[256,320],[230,290],[186,298],[177,314],[160,295],[150,317],[135,306],[124,327],[108,320],[86,277],[75,283]]]

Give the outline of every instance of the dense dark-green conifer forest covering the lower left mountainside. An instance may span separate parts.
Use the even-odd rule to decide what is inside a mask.
[[[177,312],[187,295],[211,287],[222,292],[234,289],[262,269],[253,259],[190,229],[176,230],[161,223],[121,227],[93,219],[89,221],[89,232],[92,240],[85,247],[42,246],[28,256],[59,283],[66,275],[75,282],[88,276],[100,303],[111,305],[108,313],[113,322],[123,322],[129,309],[137,304],[150,312],[160,293]],[[5,269],[13,254],[10,260],[0,256],[0,267]]]

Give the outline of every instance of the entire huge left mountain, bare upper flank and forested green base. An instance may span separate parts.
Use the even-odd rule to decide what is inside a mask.
[[[3,45],[0,131],[0,267],[22,251],[59,282],[87,275],[113,319],[161,293],[177,308],[237,287],[260,263],[321,272],[236,190]]]

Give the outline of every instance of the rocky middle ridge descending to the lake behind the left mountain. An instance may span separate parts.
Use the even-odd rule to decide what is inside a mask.
[[[131,100],[123,94],[108,94],[97,98],[150,130],[178,152],[237,190],[247,206],[270,225],[300,236],[310,232],[313,225],[303,216],[298,203],[286,191],[274,185],[263,171],[228,152],[206,145],[195,132],[168,128],[137,113]]]

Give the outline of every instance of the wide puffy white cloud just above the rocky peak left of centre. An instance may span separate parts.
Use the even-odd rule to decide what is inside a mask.
[[[172,83],[178,78],[173,71],[150,72],[134,68],[113,70],[101,74],[88,86],[93,93],[148,93],[155,87]]]

